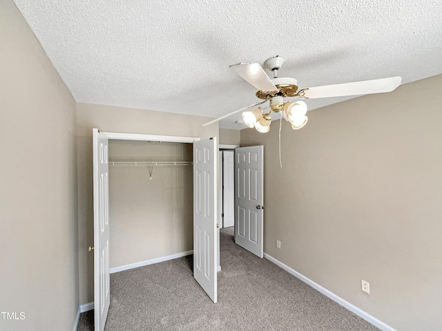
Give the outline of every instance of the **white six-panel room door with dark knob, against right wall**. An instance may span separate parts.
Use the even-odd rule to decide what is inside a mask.
[[[264,146],[235,150],[235,242],[263,257]]]

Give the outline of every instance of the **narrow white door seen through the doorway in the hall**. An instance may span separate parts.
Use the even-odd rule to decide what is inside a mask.
[[[222,161],[223,228],[235,223],[235,152],[224,150]]]

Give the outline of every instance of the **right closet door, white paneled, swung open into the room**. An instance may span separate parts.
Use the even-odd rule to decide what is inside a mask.
[[[216,138],[193,143],[193,277],[217,298],[217,159]]]

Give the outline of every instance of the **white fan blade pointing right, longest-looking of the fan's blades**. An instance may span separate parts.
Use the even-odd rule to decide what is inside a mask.
[[[305,99],[343,97],[347,95],[373,94],[392,92],[401,85],[402,77],[389,77],[372,79],[369,81],[354,81],[352,83],[342,83],[326,86],[316,86],[306,88],[303,91]],[[302,95],[302,94],[301,94]]]

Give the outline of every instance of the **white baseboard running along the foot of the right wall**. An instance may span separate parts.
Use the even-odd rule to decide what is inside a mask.
[[[354,312],[354,314],[358,315],[358,317],[365,319],[365,321],[373,324],[377,328],[380,328],[383,331],[396,331],[390,325],[385,324],[383,321],[379,321],[378,319],[376,319],[376,317],[372,317],[372,315],[368,314],[367,312],[364,312],[360,308],[356,307],[356,305],[352,305],[352,303],[349,303],[348,301],[345,301],[341,297],[338,297],[336,294],[330,292],[326,288],[323,288],[321,285],[319,285],[318,283],[315,283],[311,279],[308,279],[307,277],[305,277],[303,274],[300,274],[296,270],[291,269],[288,265],[285,265],[284,263],[278,261],[274,257],[271,257],[269,254],[264,253],[264,257],[266,259],[268,259],[269,261],[278,265],[278,267],[284,269],[285,271],[289,272],[290,274],[293,274],[294,277],[300,279],[301,281],[303,281],[307,285],[310,285],[312,288],[314,288],[318,292],[324,294],[326,297],[329,297],[330,299],[332,299],[336,303],[339,303],[340,305],[342,305],[344,308],[347,308],[347,310],[349,310],[350,312]]]

